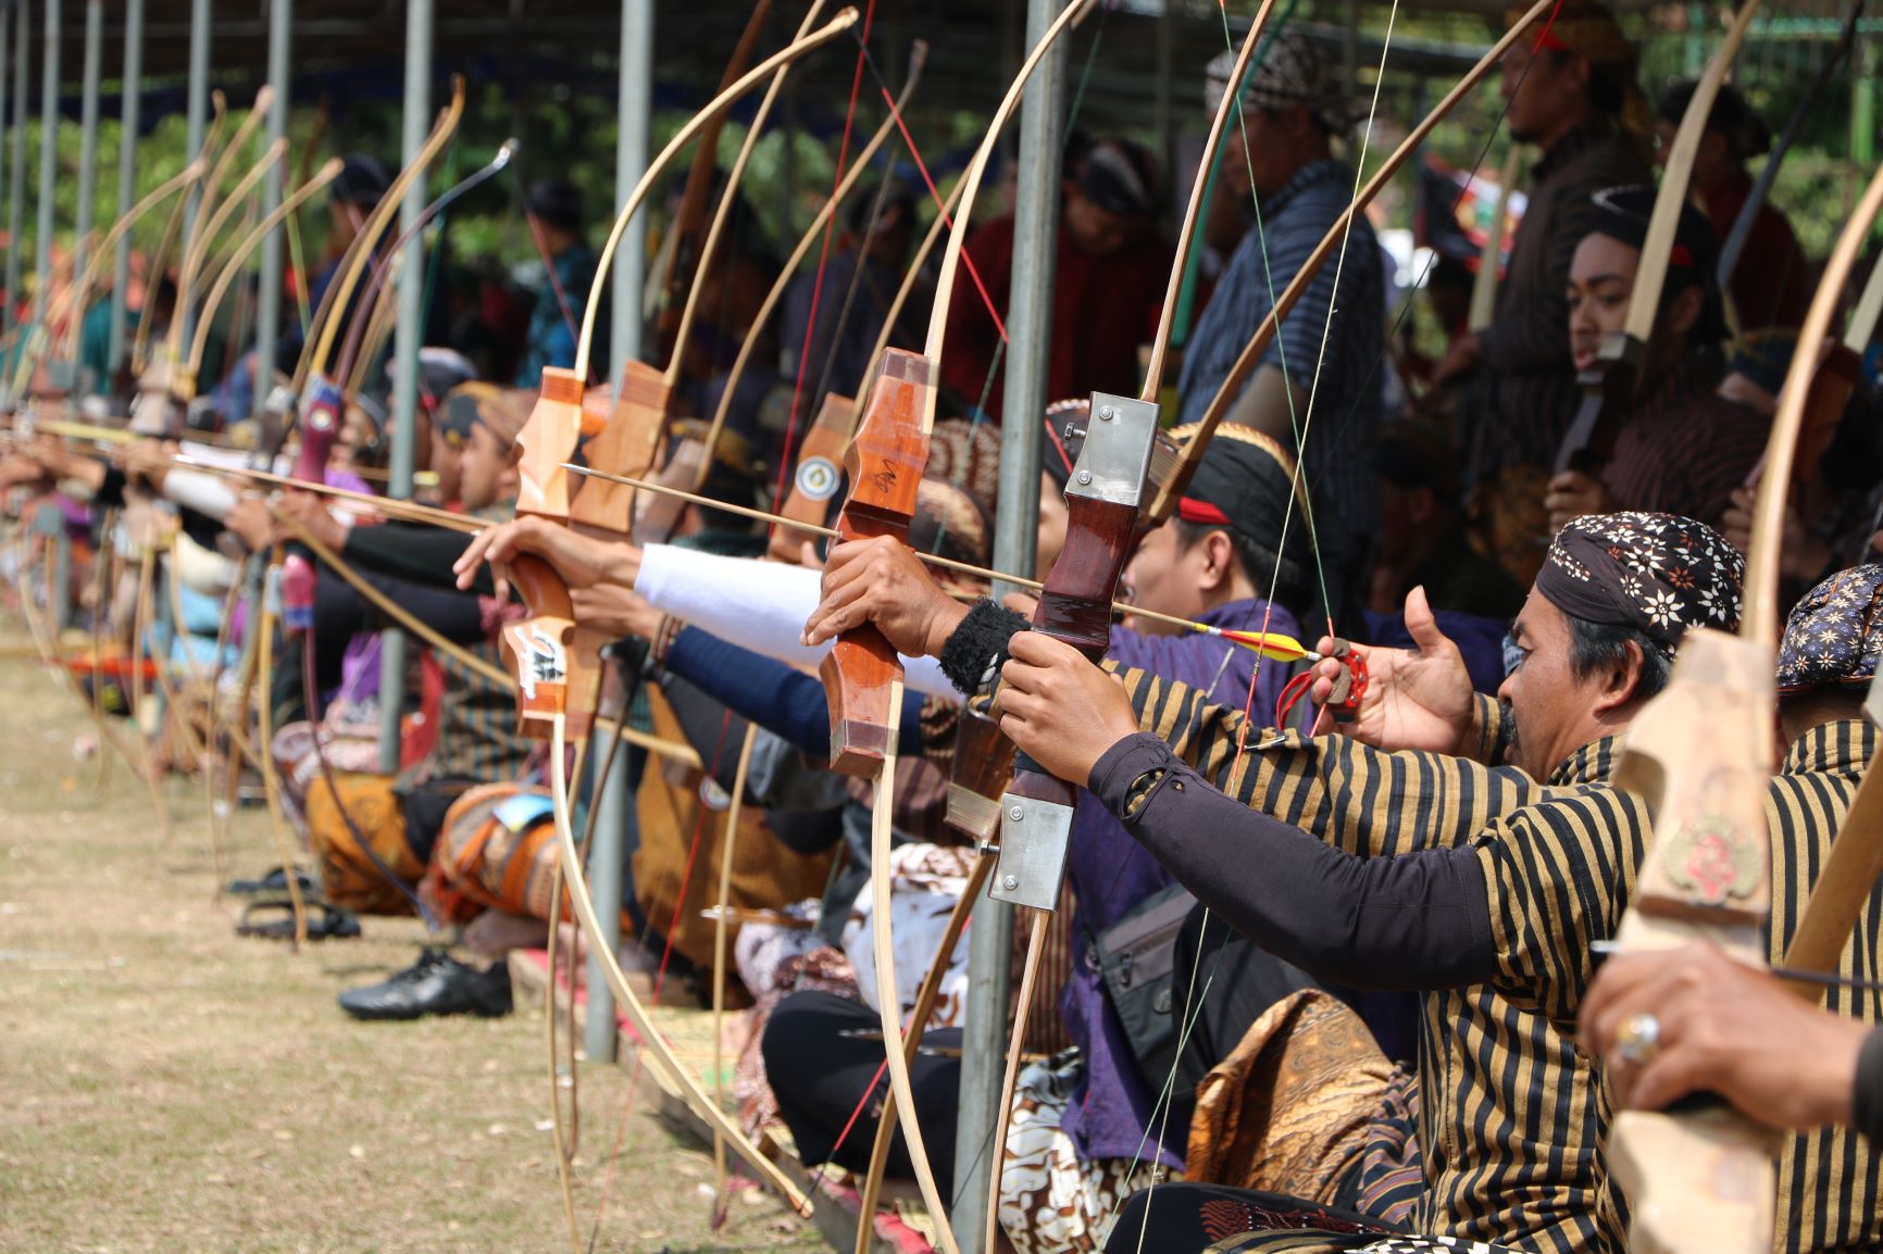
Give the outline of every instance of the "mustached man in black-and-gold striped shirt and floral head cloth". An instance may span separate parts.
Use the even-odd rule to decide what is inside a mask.
[[[1420,650],[1375,651],[1378,697],[1356,725],[1399,753],[1297,732],[1237,753],[1239,710],[1137,672],[1120,685],[996,606],[945,604],[874,540],[832,552],[806,636],[872,619],[962,670],[964,691],[992,659],[1015,744],[1090,787],[1230,926],[1320,979],[1422,992],[1418,1231],[1602,1250],[1621,1248],[1625,1203],[1574,1021],[1589,941],[1614,936],[1648,838],[1640,802],[1606,780],[1685,629],[1736,625],[1740,571],[1693,520],[1576,520],[1516,619],[1495,702],[1414,591]],[[1160,1214],[1179,1207],[1160,1192]],[[1139,1231],[1132,1211],[1119,1230]]]

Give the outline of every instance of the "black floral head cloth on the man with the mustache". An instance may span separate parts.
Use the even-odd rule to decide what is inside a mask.
[[[1636,627],[1674,657],[1689,627],[1738,631],[1746,557],[1678,514],[1584,514],[1550,540],[1537,591],[1574,618]]]

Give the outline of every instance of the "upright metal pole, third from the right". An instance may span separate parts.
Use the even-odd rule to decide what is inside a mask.
[[[431,0],[410,0],[405,9],[405,164],[418,160],[431,130]],[[399,205],[399,233],[412,232],[426,211],[426,179],[412,179]],[[443,249],[443,241],[439,243]],[[412,452],[418,424],[418,350],[426,343],[426,243],[414,235],[405,245],[399,275],[399,339],[392,373],[392,482],[394,497],[412,495]],[[365,316],[360,311],[356,316]],[[386,631],[380,648],[378,691],[405,691],[405,633]],[[378,761],[399,770],[399,702],[380,702]]]

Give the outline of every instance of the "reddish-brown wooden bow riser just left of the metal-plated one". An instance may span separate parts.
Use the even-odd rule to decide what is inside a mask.
[[[891,348],[870,390],[870,410],[844,456],[849,499],[838,518],[844,540],[879,535],[902,544],[915,518],[915,495],[928,463],[925,407],[932,403],[934,371],[919,352]],[[844,633],[817,668],[830,693],[830,768],[874,776],[894,751],[891,687],[902,676],[896,650],[876,627]]]

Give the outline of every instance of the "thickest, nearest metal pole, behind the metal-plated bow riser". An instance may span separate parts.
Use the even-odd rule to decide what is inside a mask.
[[[1056,0],[1028,0],[1026,47],[1045,38]],[[1021,105],[1021,169],[1013,201],[1013,286],[1007,297],[1007,377],[1002,388],[1000,490],[994,563],[1032,574],[1039,535],[1039,414],[1047,403],[1053,343],[1053,258],[1058,249],[1060,153],[1064,149],[1066,41],[1034,72]],[[1013,563],[1013,565],[1002,565]],[[996,586],[1000,597],[1007,587]],[[1013,908],[983,896],[968,926],[968,1007],[960,1062],[960,1113],[955,1135],[955,1237],[960,1254],[981,1248],[1000,1081],[1007,1054],[1007,1002],[1013,964]]]

